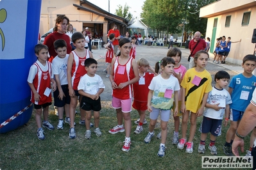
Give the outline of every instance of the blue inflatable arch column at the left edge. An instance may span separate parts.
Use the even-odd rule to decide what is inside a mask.
[[[0,133],[31,118],[30,66],[36,61],[41,0],[0,0]]]

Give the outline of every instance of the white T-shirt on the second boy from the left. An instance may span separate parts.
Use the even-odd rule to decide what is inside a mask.
[[[60,85],[67,84],[67,59],[69,54],[66,54],[65,58],[59,58],[56,56],[52,61],[53,74],[58,75],[60,79]]]

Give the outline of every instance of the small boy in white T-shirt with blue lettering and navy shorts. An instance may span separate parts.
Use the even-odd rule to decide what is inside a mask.
[[[209,150],[212,155],[217,155],[215,146],[216,137],[221,134],[221,124],[225,114],[224,125],[228,124],[229,104],[232,103],[230,94],[226,89],[230,75],[225,71],[219,71],[214,77],[216,85],[212,88],[205,104],[205,112],[203,113],[203,121],[201,123],[201,141],[198,146],[198,153],[205,153],[205,140],[210,132]]]

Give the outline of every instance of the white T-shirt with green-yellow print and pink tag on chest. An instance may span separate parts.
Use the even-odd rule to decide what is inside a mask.
[[[157,109],[169,110],[173,105],[174,92],[180,90],[180,84],[176,77],[163,79],[162,75],[157,75],[153,77],[148,88],[153,90],[151,105]]]

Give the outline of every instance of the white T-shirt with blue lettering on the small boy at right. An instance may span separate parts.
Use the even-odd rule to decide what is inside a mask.
[[[213,87],[207,98],[207,103],[219,104],[219,107],[223,107],[223,109],[219,109],[219,111],[216,111],[212,108],[205,107],[205,112],[203,112],[203,116],[215,120],[223,120],[226,105],[232,104],[232,100],[230,94],[228,93],[228,91],[226,91],[226,89],[216,89],[215,87]]]

